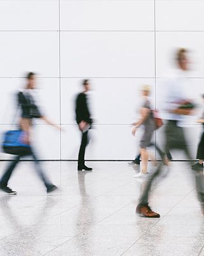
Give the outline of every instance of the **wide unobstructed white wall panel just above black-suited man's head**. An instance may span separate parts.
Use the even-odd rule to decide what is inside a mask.
[[[153,77],[153,32],[61,32],[62,77]]]

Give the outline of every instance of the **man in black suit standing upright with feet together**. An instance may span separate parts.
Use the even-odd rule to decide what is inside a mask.
[[[80,145],[80,150],[78,152],[78,171],[92,171],[92,168],[85,166],[85,148],[88,144],[88,132],[91,129],[92,119],[91,113],[89,111],[88,102],[87,102],[87,92],[90,91],[91,86],[88,79],[85,79],[82,82],[84,87],[83,92],[77,95],[76,100],[76,118],[78,128],[82,132],[82,141]]]

